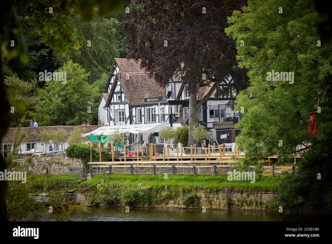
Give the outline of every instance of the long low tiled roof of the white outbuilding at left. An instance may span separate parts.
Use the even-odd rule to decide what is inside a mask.
[[[80,128],[82,133],[91,132],[104,125],[57,125],[57,126],[38,126],[38,127],[20,127],[20,128],[7,128],[5,136],[2,138],[1,142],[13,142],[15,138],[16,129],[21,129],[27,135],[24,141],[41,141],[40,133],[43,130],[57,130],[63,128],[67,132],[69,138],[70,131],[76,127]],[[89,140],[90,136],[87,136],[86,139]]]

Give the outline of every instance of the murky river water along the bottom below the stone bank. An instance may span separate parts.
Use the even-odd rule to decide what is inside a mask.
[[[86,207],[75,209],[74,221],[314,221],[316,217],[300,213],[261,211],[191,210],[160,208]],[[46,220],[46,219],[45,219]]]

